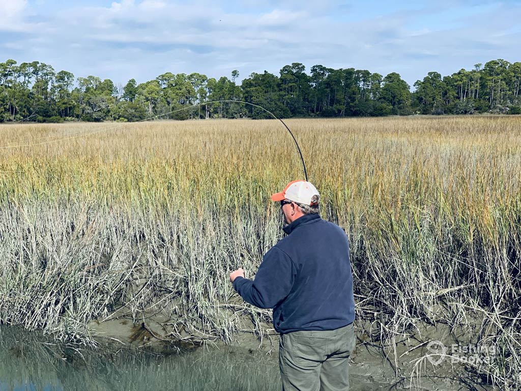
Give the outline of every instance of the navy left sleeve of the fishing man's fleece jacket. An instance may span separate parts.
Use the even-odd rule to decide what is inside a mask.
[[[233,288],[244,301],[259,308],[273,308],[286,298],[293,286],[296,270],[284,251],[272,247],[259,266],[255,279],[237,277]]]

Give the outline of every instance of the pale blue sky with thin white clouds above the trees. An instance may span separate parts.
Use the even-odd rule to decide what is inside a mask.
[[[429,71],[521,61],[520,20],[521,0],[0,0],[0,62],[116,84],[320,64],[398,72],[413,85]]]

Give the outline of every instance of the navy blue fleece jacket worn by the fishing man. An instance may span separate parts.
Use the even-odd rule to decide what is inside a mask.
[[[285,334],[333,330],[354,321],[349,242],[342,228],[304,215],[284,227],[254,280],[237,277],[233,287],[260,308],[273,308],[273,324]]]

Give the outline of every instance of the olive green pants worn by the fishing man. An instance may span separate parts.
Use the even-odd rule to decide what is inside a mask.
[[[348,390],[348,361],[354,348],[352,323],[336,330],[281,334],[279,368],[283,391]]]

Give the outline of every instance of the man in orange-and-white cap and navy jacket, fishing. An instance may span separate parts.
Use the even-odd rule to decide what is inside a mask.
[[[349,242],[342,228],[320,218],[319,198],[303,180],[273,194],[287,236],[264,255],[254,280],[244,278],[242,268],[230,274],[245,301],[273,308],[286,391],[349,389],[355,347]]]

